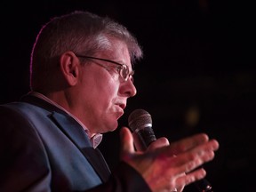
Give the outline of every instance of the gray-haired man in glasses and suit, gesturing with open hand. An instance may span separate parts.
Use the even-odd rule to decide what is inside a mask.
[[[109,18],[71,12],[41,28],[31,53],[31,92],[0,107],[0,191],[182,191],[205,176],[200,165],[219,148],[205,134],[160,138],[137,152],[120,132],[116,170],[97,146],[116,130],[136,94],[136,38]]]

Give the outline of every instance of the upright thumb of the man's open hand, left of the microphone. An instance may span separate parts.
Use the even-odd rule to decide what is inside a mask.
[[[122,127],[120,131],[120,158],[124,160],[130,154],[134,153],[132,132],[127,127]]]

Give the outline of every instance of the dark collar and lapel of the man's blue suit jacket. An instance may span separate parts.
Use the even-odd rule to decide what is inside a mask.
[[[35,96],[28,95],[22,100],[51,112],[49,118],[52,122],[57,124],[68,139],[79,148],[90,164],[92,164],[93,169],[98,173],[100,179],[102,181],[108,180],[110,175],[108,164],[100,153],[100,150],[98,148],[92,148],[92,143],[84,131],[84,128],[78,124],[74,118],[60,108],[53,106],[45,100],[36,98]]]

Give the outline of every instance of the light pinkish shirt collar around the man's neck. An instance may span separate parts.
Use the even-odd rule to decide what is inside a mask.
[[[76,122],[78,124],[80,124],[83,128],[84,131],[87,133],[87,135],[89,136],[89,130],[87,127],[85,127],[85,125],[78,119],[76,118],[76,116],[73,116],[71,113],[68,112],[68,110],[66,110],[65,108],[62,108],[59,104],[57,104],[56,102],[54,102],[53,100],[50,100],[49,98],[47,98],[44,94],[40,93],[40,92],[30,92],[31,95],[40,98],[42,100],[45,100],[48,103],[51,103],[53,106],[55,106],[56,108],[60,108],[61,110],[65,111],[69,116],[73,117]],[[100,133],[95,134],[92,138],[90,138],[91,142],[92,142],[92,147],[93,148],[97,148],[100,145],[100,142],[102,140],[103,135]]]

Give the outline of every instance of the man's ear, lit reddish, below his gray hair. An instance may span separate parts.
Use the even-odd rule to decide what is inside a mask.
[[[80,61],[74,52],[64,52],[60,56],[60,70],[69,85],[78,82]]]

